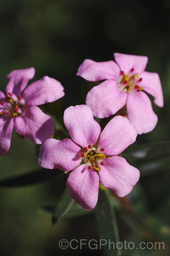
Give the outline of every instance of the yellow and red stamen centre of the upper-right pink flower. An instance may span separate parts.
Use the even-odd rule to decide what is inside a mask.
[[[124,74],[123,71],[120,71],[119,77],[117,78],[117,83],[119,90],[126,93],[133,93],[135,91],[141,91],[142,88],[139,86],[139,83],[142,81],[142,77],[139,78],[139,74],[134,74],[134,68],[130,70],[128,75]]]

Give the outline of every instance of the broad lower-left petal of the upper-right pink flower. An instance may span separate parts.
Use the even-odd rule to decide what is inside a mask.
[[[119,91],[116,81],[106,80],[88,92],[86,104],[94,116],[105,118],[121,109],[126,104],[127,97],[127,93]]]

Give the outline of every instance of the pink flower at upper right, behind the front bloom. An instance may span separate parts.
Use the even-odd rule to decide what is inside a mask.
[[[99,118],[114,115],[126,104],[128,118],[138,134],[152,131],[157,124],[157,116],[143,90],[155,98],[157,106],[163,107],[159,75],[144,71],[148,62],[146,56],[115,53],[114,57],[116,62],[86,59],[79,67],[77,75],[84,79],[105,80],[88,92],[86,104]]]

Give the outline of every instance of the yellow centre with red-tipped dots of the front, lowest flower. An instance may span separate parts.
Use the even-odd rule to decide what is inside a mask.
[[[99,163],[99,160],[106,158],[106,156],[103,153],[97,153],[96,151],[97,148],[92,147],[91,145],[82,149],[80,156],[83,158],[85,163],[89,163],[89,166],[87,167],[88,170],[93,168],[95,171],[100,171],[101,167],[99,165],[104,165],[104,162],[101,161]],[[100,151],[103,152],[104,148],[100,148]]]

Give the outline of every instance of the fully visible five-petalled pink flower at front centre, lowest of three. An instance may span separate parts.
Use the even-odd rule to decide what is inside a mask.
[[[66,182],[68,192],[85,210],[95,207],[100,182],[119,197],[128,195],[140,175],[118,156],[136,140],[137,131],[129,120],[116,116],[101,132],[91,109],[77,105],[65,110],[64,123],[72,140],[46,140],[40,147],[39,165],[73,170]]]

